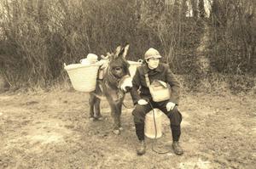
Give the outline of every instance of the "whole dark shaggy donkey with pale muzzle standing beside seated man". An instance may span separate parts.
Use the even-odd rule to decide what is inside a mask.
[[[121,127],[121,111],[122,104],[125,99],[125,93],[131,90],[131,77],[129,71],[129,63],[126,61],[129,44],[122,48],[115,49],[115,52],[109,54],[103,59],[108,59],[105,65],[102,65],[102,78],[96,82],[96,90],[90,93],[90,120],[102,120],[100,103],[101,96],[105,96],[111,109],[113,117],[113,133],[119,134]]]

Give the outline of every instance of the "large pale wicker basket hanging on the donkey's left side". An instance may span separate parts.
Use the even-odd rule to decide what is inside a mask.
[[[96,89],[96,77],[100,65],[64,64],[72,86],[79,92],[92,92]]]

